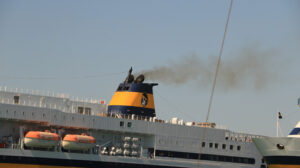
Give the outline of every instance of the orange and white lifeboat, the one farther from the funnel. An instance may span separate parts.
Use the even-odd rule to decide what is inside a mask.
[[[24,145],[26,147],[37,147],[37,148],[53,148],[59,143],[59,135],[51,133],[46,130],[42,131],[29,131],[25,135]]]

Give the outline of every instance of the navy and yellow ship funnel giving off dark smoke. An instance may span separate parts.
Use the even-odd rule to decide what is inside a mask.
[[[143,83],[145,76],[142,74],[134,80],[131,73],[132,68],[130,68],[125,81],[119,85],[109,102],[107,112],[155,117],[153,86],[158,84]]]

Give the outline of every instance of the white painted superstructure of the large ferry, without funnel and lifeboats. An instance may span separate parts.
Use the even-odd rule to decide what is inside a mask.
[[[19,104],[14,104],[13,101],[16,94],[20,96]],[[83,106],[91,108],[91,115],[78,114],[78,107]],[[150,149],[154,149],[199,153],[202,140],[204,140],[207,146],[202,148],[203,153],[250,157],[255,158],[256,163],[251,165],[201,160],[200,165],[203,167],[254,168],[261,165],[261,155],[251,142],[253,137],[258,137],[257,135],[235,133],[227,129],[204,128],[193,124],[184,125],[183,121],[178,124],[178,119],[167,123],[158,121],[156,117],[147,120],[138,120],[136,116],[109,117],[105,112],[106,104],[75,101],[61,96],[0,91],[0,138],[11,137],[13,142],[10,144],[22,146],[22,135],[26,131],[38,129],[37,125],[39,125],[40,127],[51,127],[60,135],[65,134],[68,130],[78,130],[78,133],[84,131],[84,133],[92,135],[96,139],[96,145],[99,146],[97,149],[99,152],[95,154],[23,150],[20,147],[18,149],[9,147],[0,148],[0,155],[5,153],[5,155],[12,156],[198,167],[197,160],[159,157],[158,153],[150,154],[149,152]],[[123,127],[120,127],[120,122],[124,122]],[[130,128],[127,127],[128,122],[132,123]],[[206,129],[206,137],[202,138],[204,129]],[[133,148],[125,150],[123,148],[125,143]],[[219,147],[210,148],[209,143],[219,144]],[[227,148],[222,149],[222,144],[225,144]],[[64,145],[66,144],[62,143],[62,146]],[[229,149],[230,145],[234,146],[233,150]],[[241,146],[241,150],[237,150],[237,146]],[[112,147],[115,149],[111,153]],[[71,150],[71,148],[69,149]],[[128,157],[124,157],[124,153]]]

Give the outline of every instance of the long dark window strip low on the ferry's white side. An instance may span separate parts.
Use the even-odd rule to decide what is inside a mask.
[[[153,151],[153,149],[152,149],[152,151]],[[223,156],[223,155],[211,155],[211,154],[199,154],[199,153],[187,153],[187,152],[175,152],[175,151],[164,151],[164,150],[156,150],[156,156],[184,158],[184,159],[199,159],[200,158],[200,160],[255,164],[255,159],[254,158],[236,157],[236,156]]]

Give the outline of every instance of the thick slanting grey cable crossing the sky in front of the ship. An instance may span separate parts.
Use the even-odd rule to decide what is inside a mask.
[[[205,123],[208,122],[209,114],[210,114],[210,111],[211,111],[211,105],[212,105],[213,96],[214,96],[214,92],[215,92],[215,88],[216,88],[217,77],[218,77],[218,73],[219,73],[219,69],[220,69],[220,65],[221,65],[221,60],[222,60],[221,58],[222,58],[222,55],[223,55],[224,43],[225,43],[225,39],[226,39],[226,35],[227,35],[228,24],[229,24],[231,10],[232,10],[232,4],[233,4],[233,0],[230,0],[230,6],[229,6],[228,14],[227,14],[226,25],[225,25],[223,38],[222,38],[222,44],[221,44],[221,48],[220,48],[220,52],[219,52],[218,63],[217,63],[217,66],[216,66],[216,71],[215,71],[213,86],[212,86],[212,90],[211,90],[211,95],[210,95],[210,98],[209,98],[209,104],[208,104],[208,110],[207,110],[207,114],[206,114]],[[202,143],[205,140],[206,130],[207,130],[207,128],[206,128],[206,126],[204,126],[202,136],[201,136],[202,141],[200,143],[200,152],[199,152],[199,155],[198,155],[198,167],[200,166],[201,153],[202,153],[202,149],[203,149]]]

